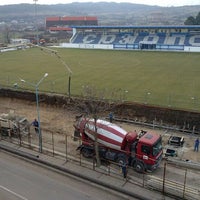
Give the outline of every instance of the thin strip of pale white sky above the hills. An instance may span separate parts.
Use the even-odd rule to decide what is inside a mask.
[[[183,5],[200,5],[200,0],[0,0],[0,5],[9,5],[9,4],[20,4],[20,3],[29,3],[34,4],[66,4],[72,2],[129,2],[137,4],[146,4],[146,5],[158,5],[158,6],[183,6]]]

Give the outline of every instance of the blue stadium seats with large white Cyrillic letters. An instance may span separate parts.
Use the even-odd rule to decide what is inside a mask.
[[[152,43],[158,49],[177,49],[182,50],[184,46],[200,46],[200,34],[192,35],[189,33],[95,33],[77,32],[72,39],[72,43],[78,44],[112,44],[115,48],[140,48],[140,43]],[[170,48],[169,48],[170,47]],[[152,49],[152,46],[149,48]]]

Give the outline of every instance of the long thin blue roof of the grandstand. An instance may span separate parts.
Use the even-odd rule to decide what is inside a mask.
[[[200,29],[200,25],[171,25],[171,26],[72,26],[77,29]]]

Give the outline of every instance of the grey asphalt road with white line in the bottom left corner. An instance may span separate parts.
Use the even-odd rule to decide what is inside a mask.
[[[0,152],[0,199],[125,200],[128,198]]]

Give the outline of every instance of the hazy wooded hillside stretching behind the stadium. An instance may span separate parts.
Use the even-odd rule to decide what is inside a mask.
[[[0,6],[0,22],[12,20],[33,21],[34,4]],[[69,3],[37,4],[37,18],[44,22],[47,16],[97,16],[99,25],[180,25],[187,17],[196,16],[198,6],[159,7],[132,3]]]

